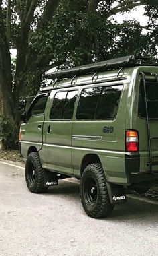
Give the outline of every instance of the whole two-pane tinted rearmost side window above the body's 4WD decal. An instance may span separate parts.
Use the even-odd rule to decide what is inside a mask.
[[[123,85],[86,88],[82,90],[77,119],[114,119]]]

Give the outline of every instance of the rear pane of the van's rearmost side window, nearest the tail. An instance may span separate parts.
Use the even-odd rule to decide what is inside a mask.
[[[113,119],[116,117],[122,88],[123,86],[106,86],[102,89],[96,119]]]

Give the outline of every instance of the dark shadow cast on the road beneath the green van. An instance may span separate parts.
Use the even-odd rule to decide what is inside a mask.
[[[60,185],[56,187],[50,187],[46,196],[55,195],[56,197],[66,197],[67,199],[76,201],[80,203],[80,185],[76,183],[69,183],[67,181],[60,181]],[[120,222],[153,222],[157,223],[158,215],[158,205],[153,205],[151,203],[145,203],[143,201],[138,201],[136,199],[127,199],[127,203],[122,205],[115,205],[114,211],[111,216],[104,218],[104,220],[117,220]]]

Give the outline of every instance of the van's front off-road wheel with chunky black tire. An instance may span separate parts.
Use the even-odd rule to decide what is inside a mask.
[[[25,181],[32,193],[44,193],[48,190],[48,187],[44,186],[44,169],[38,152],[31,152],[27,157]]]

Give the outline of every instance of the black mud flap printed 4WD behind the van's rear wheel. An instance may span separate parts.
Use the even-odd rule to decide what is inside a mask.
[[[112,203],[112,205],[127,202],[127,197],[123,186],[112,184],[108,181],[106,181],[106,186],[108,189],[108,195],[110,197],[110,203]]]

